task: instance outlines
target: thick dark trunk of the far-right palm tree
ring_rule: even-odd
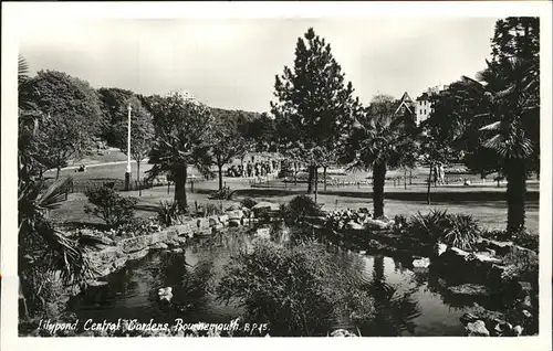
[[[507,162],[507,231],[509,234],[524,228],[526,195],[526,171],[524,161],[508,160]]]

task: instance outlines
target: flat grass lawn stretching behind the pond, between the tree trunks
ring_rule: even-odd
[[[117,164],[118,166],[118,164]],[[101,170],[98,168],[98,170]],[[98,172],[101,174],[109,174],[108,172]],[[85,173],[76,173],[79,176],[95,174],[93,168]],[[113,173],[113,174],[118,174]],[[237,190],[234,201],[239,202],[246,196],[255,199],[257,201],[271,201],[278,203],[286,203],[295,195],[304,193],[305,184],[291,187],[292,189],[257,189],[251,188],[248,180],[226,179],[227,184]],[[213,203],[226,209],[232,202],[208,200],[208,194],[215,191],[218,187],[217,180],[197,183],[195,192],[190,193],[190,188],[187,187],[188,203],[190,206],[204,203]],[[526,201],[526,226],[533,234],[539,233],[539,199],[536,184],[529,184],[529,196]],[[322,187],[321,187],[322,188]],[[344,187],[330,188],[327,192],[322,192],[317,195],[317,202],[323,204],[324,210],[342,210],[342,209],[372,209],[372,200],[369,188]],[[432,188],[432,203],[428,205],[425,201],[425,187],[409,187],[404,190],[403,187],[394,188],[387,185],[385,189],[385,214],[389,217],[396,214],[413,215],[417,212],[428,212],[432,209],[448,210],[451,213],[472,214],[486,227],[503,228],[507,221],[507,203],[504,196],[505,188],[488,187],[439,187]],[[137,191],[123,192],[122,194],[138,198]],[[139,198],[137,215],[148,217],[156,215],[156,206],[161,200],[170,200],[174,196],[174,187],[170,187],[167,193],[167,187],[158,187],[154,189],[143,190],[143,195]],[[64,222],[81,222],[81,223],[100,223],[100,220],[91,217],[84,213],[86,198],[82,193],[70,194],[67,201],[60,209],[52,212],[52,216]]]

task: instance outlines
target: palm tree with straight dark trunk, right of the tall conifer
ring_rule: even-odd
[[[403,116],[394,115],[392,97],[377,96],[353,126],[344,147],[344,161],[349,168],[373,171],[373,206],[375,217],[384,215],[384,183],[388,169],[413,167],[418,146]]]

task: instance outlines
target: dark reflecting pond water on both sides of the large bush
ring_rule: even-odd
[[[81,320],[94,322],[118,318],[142,322],[154,319],[171,323],[175,318],[185,322],[229,322],[242,310],[237,305],[219,302],[215,288],[230,257],[250,246],[253,236],[252,232],[234,230],[196,240],[184,253],[154,252],[106,277],[107,285],[90,287],[72,298],[70,310]],[[379,305],[373,328],[363,330],[363,336],[463,336],[459,318],[465,307],[447,302],[439,291],[441,279],[428,269],[409,269],[408,262],[355,249],[332,249],[340,265],[355,265],[364,280],[376,279],[393,291]],[[161,287],[173,288],[170,306],[159,301]]]

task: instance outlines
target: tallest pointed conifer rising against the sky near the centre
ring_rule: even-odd
[[[293,70],[284,67],[275,77],[271,111],[275,116],[282,152],[295,149],[309,164],[307,192],[320,160],[316,148],[331,149],[343,130],[353,123],[358,100],[353,98],[351,83],[345,84],[342,68],[334,59],[331,45],[310,28],[298,39]]]

